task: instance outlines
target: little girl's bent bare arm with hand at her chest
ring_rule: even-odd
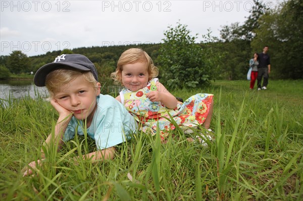
[[[169,109],[177,106],[177,99],[160,82],[157,83],[157,91],[151,91],[146,94],[152,102],[161,102]]]

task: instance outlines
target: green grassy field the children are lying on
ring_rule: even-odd
[[[208,147],[136,133],[112,161],[72,158],[93,151],[75,138],[50,149],[36,177],[22,177],[52,131],[56,111],[43,98],[1,100],[1,200],[301,200],[303,82],[272,81],[266,91],[248,81],[216,81],[207,89],[176,90],[184,100],[215,95]],[[112,94],[114,95],[114,94]],[[196,136],[194,132],[192,136]]]

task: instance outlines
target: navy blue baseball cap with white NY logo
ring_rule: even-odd
[[[65,67],[79,71],[90,71],[96,81],[98,81],[97,70],[94,64],[86,56],[81,54],[62,54],[57,56],[52,63],[47,63],[38,69],[34,77],[35,85],[38,87],[44,87],[46,76],[49,73]]]

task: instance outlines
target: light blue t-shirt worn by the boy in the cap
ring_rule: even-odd
[[[96,99],[97,109],[87,128],[87,136],[95,140],[98,150],[125,142],[136,130],[137,123],[133,116],[110,95],[100,94]],[[77,126],[78,135],[84,136],[82,121],[73,116],[64,133],[65,142],[75,137]]]

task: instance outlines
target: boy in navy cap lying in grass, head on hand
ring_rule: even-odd
[[[136,122],[124,106],[112,96],[100,94],[97,75],[94,64],[80,54],[62,54],[36,72],[35,85],[46,86],[51,104],[59,113],[56,127],[45,141],[45,150],[52,146],[60,150],[78,133],[96,144],[97,151],[83,155],[83,159],[113,159],[114,146],[136,130]],[[24,176],[33,174],[45,155],[42,149],[41,160],[29,163]],[[78,159],[74,160],[77,163]]]

